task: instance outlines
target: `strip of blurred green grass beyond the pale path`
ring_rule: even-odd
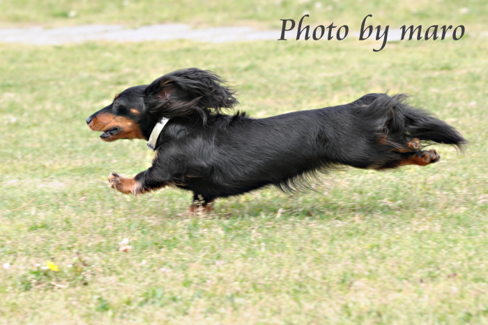
[[[485,0],[2,0],[0,26],[185,22],[281,28],[280,19],[298,22],[305,13],[310,14],[307,22],[347,24],[354,31],[360,29],[363,18],[369,14],[373,15],[369,22],[374,26],[468,24],[469,31],[473,31],[485,26],[488,3]]]

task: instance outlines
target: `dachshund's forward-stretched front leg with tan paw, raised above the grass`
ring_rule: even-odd
[[[148,180],[148,171],[143,171],[132,178],[123,177],[117,173],[110,173],[108,179],[109,187],[124,194],[132,193],[137,195],[139,193],[160,189],[168,185],[168,182],[153,179]]]

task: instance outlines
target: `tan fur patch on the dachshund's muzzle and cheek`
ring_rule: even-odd
[[[139,125],[125,116],[116,116],[112,113],[100,113],[88,125],[92,131],[106,132],[110,129],[118,127],[120,129],[116,134],[112,134],[107,138],[102,138],[103,141],[111,142],[121,138],[144,138]],[[147,139],[146,139],[147,140]]]

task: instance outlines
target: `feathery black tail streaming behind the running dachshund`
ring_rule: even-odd
[[[411,106],[407,95],[392,97],[386,94],[365,95],[358,102],[358,113],[366,120],[374,120],[374,127],[387,139],[405,136],[419,138],[423,143],[455,145],[462,150],[467,143],[457,130],[431,113]]]

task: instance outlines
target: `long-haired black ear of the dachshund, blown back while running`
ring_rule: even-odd
[[[146,88],[144,104],[148,113],[158,117],[175,118],[197,111],[206,118],[211,111],[218,113],[238,104],[234,91],[222,83],[221,77],[208,70],[176,70]]]

